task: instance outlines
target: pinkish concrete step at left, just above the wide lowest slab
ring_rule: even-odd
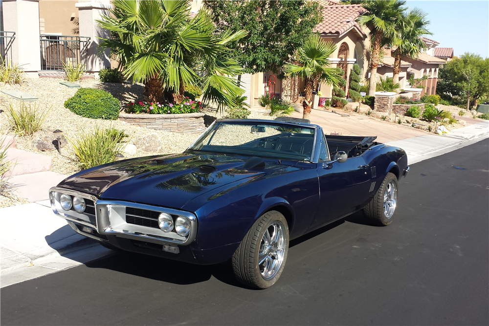
[[[51,157],[18,150],[16,148],[8,149],[6,158],[7,160],[16,163],[15,166],[12,166],[10,170],[5,173],[6,177],[49,171],[52,166]]]

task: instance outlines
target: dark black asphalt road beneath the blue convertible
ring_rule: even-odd
[[[2,288],[1,325],[488,325],[488,145],[412,165],[388,227],[355,214],[294,240],[269,289],[118,253]]]

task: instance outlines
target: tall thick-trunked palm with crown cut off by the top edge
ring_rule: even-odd
[[[386,40],[386,36],[394,35],[396,21],[400,19],[402,12],[406,10],[405,7],[402,7],[405,3],[406,1],[404,0],[366,1],[363,7],[367,9],[368,13],[356,19],[360,25],[372,28],[370,31],[370,40],[373,44],[370,56],[370,96],[375,95],[380,49],[385,45],[383,42]]]

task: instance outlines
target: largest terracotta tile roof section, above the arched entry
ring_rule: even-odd
[[[358,16],[366,12],[360,4],[345,4],[325,6],[323,8],[323,22],[317,24],[314,32],[322,35],[340,36],[352,28],[356,28],[362,37],[366,37],[355,21]]]

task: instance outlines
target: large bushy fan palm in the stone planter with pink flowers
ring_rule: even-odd
[[[217,33],[209,14],[190,18],[190,1],[114,0],[110,15],[98,21],[111,32],[101,49],[111,48],[127,78],[144,84],[151,101],[179,102],[185,85],[202,88],[204,101],[218,106],[244,91],[230,76],[241,67],[229,59],[226,44],[246,32]],[[174,98],[165,99],[163,89]]]

